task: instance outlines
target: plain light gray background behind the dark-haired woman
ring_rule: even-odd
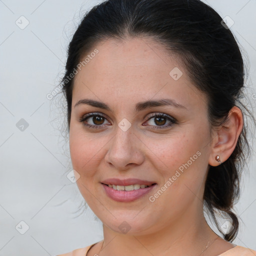
[[[64,113],[55,97],[46,98],[63,74],[66,47],[82,14],[98,2],[0,0],[0,256],[53,256],[103,238],[89,208],[75,213],[83,198],[65,176],[72,167],[59,130]],[[247,94],[255,108],[256,1],[205,2],[234,20],[231,30],[250,64]],[[29,21],[24,29],[15,23],[21,15]],[[16,127],[21,118],[28,123],[23,131]],[[248,164],[233,243],[256,249],[255,155]],[[24,234],[17,231],[25,228],[20,221],[29,226]]]

